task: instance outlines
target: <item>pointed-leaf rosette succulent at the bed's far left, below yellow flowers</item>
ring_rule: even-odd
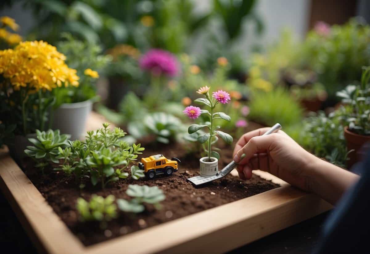
[[[58,154],[59,148],[68,146],[67,134],[60,134],[59,130],[39,131],[36,130],[37,138],[28,138],[34,146],[27,146],[24,153],[27,156],[34,158],[38,161],[36,167],[44,171],[44,167],[49,163],[59,163]]]

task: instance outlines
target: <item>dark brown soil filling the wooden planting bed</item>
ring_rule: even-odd
[[[25,173],[55,213],[60,216],[84,245],[92,245],[130,234],[279,187],[278,184],[256,175],[253,175],[252,179],[248,181],[241,181],[231,174],[203,186],[194,187],[186,179],[199,175],[199,158],[201,156],[191,155],[179,145],[162,145],[159,147],[147,145],[144,147],[146,148],[144,154],[139,158],[159,153],[164,154],[167,158],[178,157],[181,160],[179,170],[172,176],[160,175],[154,180],[144,178],[134,180],[129,177],[108,184],[105,191],[101,190],[100,184],[95,187],[92,186],[89,180],[86,181],[85,188],[80,190],[73,177],[65,176],[62,172],[51,171],[51,169],[45,170],[45,175],[42,175],[34,169],[33,163],[29,161],[24,164]],[[231,160],[232,152],[224,149],[219,161],[220,170]],[[100,228],[98,222],[82,223],[78,220],[78,213],[75,208],[78,197],[90,200],[92,194],[104,197],[113,194],[116,198],[129,199],[130,197],[125,193],[129,184],[146,184],[161,188],[166,195],[166,199],[161,202],[162,209],[156,210],[152,205],[146,205],[146,210],[140,214],[120,212],[120,216],[109,221],[104,229]]]

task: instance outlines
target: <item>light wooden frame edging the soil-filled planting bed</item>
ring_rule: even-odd
[[[332,208],[269,173],[253,172],[281,187],[85,247],[9,154],[0,153],[1,191],[37,250],[50,254],[223,253]]]

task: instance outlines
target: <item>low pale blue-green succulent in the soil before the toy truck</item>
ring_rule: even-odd
[[[160,209],[161,204],[159,202],[166,198],[158,186],[149,187],[147,185],[130,184],[126,194],[133,198],[129,201],[118,199],[117,205],[121,211],[130,213],[141,213],[144,211],[144,203],[152,204],[155,208]]]

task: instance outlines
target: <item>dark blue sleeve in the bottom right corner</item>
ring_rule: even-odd
[[[363,253],[370,240],[370,153],[356,172],[360,180],[344,195],[329,216],[314,253]]]

